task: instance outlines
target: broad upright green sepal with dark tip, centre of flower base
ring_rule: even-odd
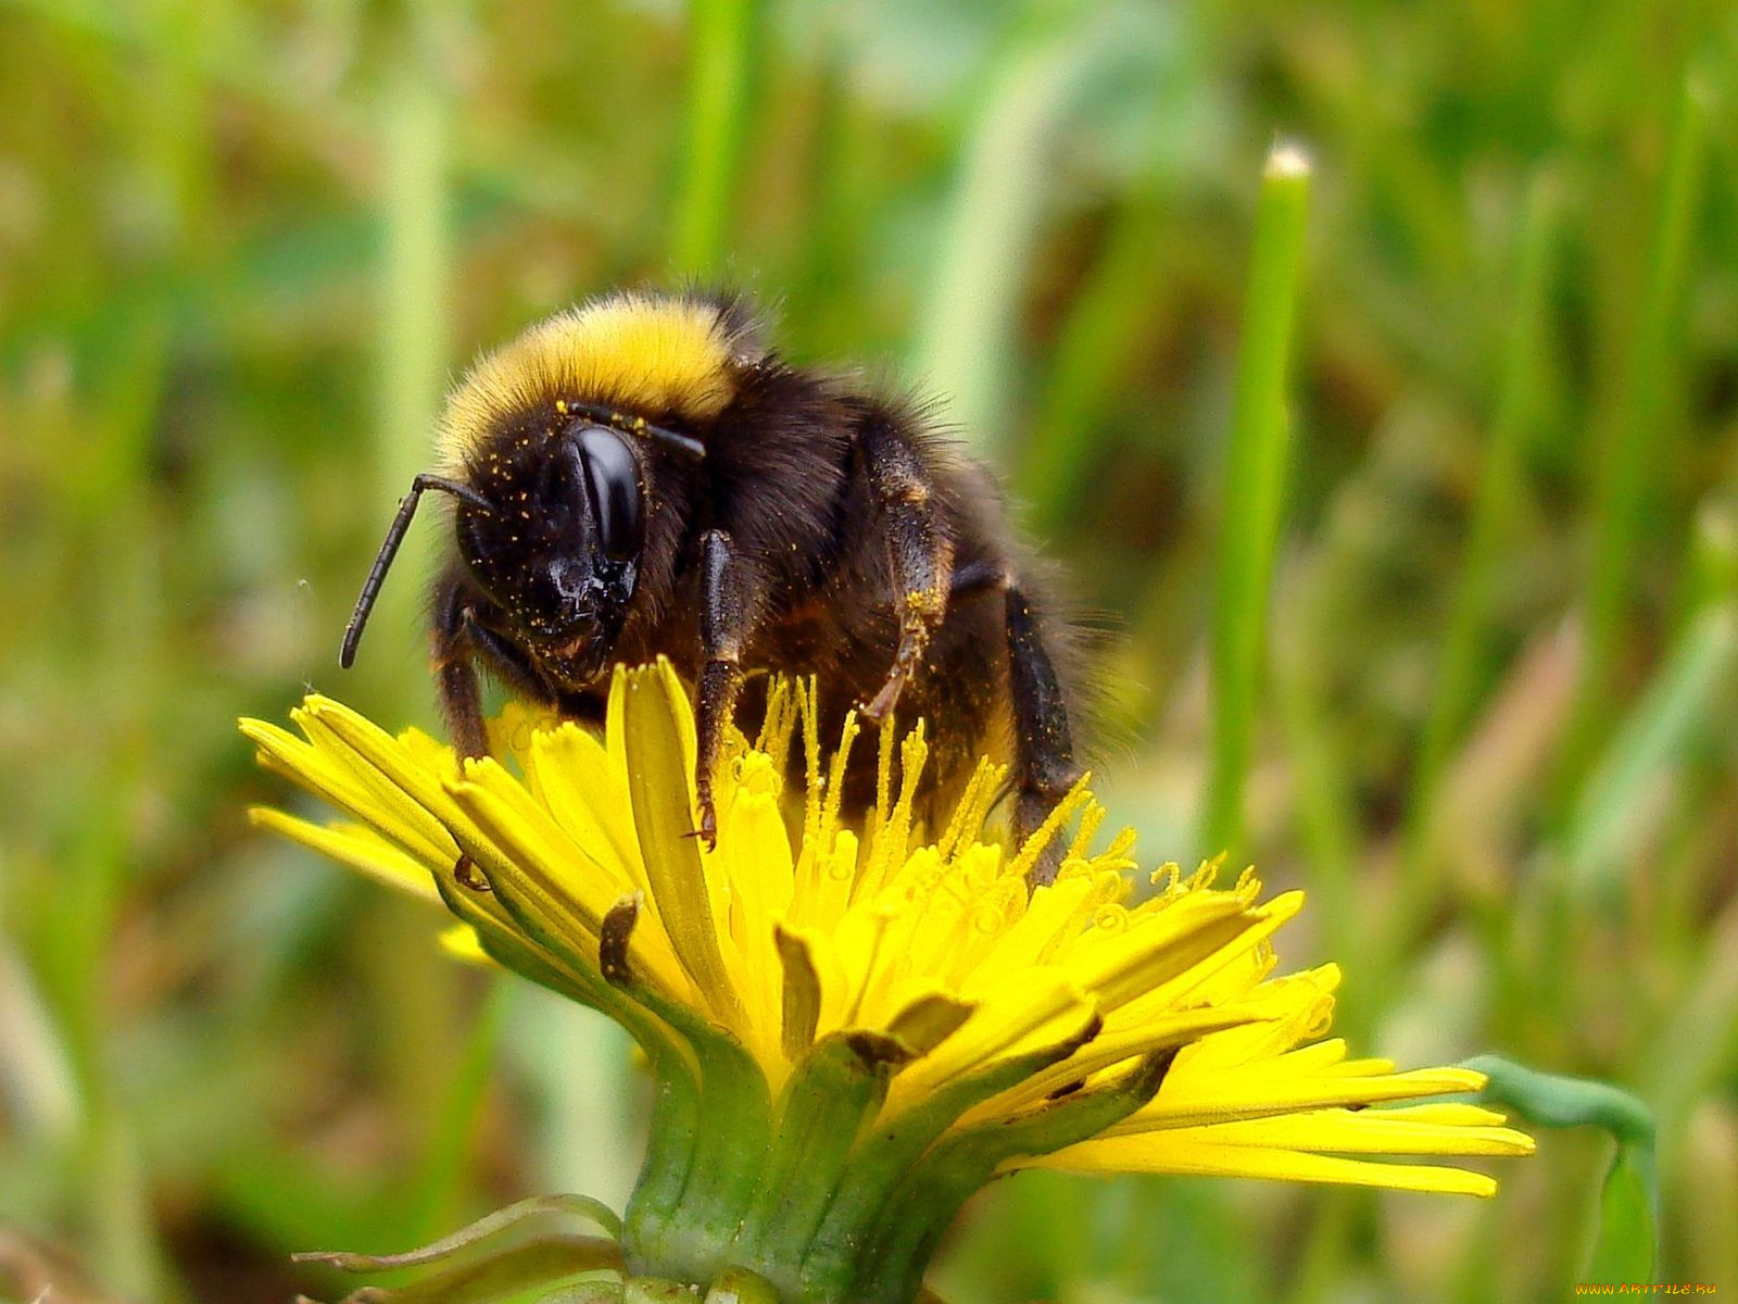
[[[779,1097],[779,1132],[754,1205],[737,1238],[751,1262],[801,1262],[852,1149],[911,1050],[881,1033],[839,1031],[796,1064]],[[793,1283],[794,1285],[794,1283]]]

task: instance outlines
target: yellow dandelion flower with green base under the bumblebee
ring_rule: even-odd
[[[620,1229],[626,1271],[768,1297],[904,1302],[959,1205],[999,1174],[1224,1174],[1491,1194],[1385,1156],[1526,1154],[1483,1076],[1397,1073],[1328,1031],[1338,970],[1276,975],[1302,894],[1095,850],[1085,786],[1024,847],[985,838],[984,762],[945,828],[912,796],[921,727],[881,734],[879,800],[841,819],[855,722],[824,755],[812,690],[777,685],[693,829],[693,716],[666,664],[619,669],[605,735],[511,708],[497,760],[393,737],[309,697],[302,737],[243,722],[266,765],[342,810],[273,828],[457,916],[445,942],[617,1019],[655,1080]],[[869,744],[864,741],[862,744]],[[805,782],[787,793],[799,748]],[[1069,833],[1072,829],[1072,835]],[[1057,880],[1027,869],[1069,838]]]

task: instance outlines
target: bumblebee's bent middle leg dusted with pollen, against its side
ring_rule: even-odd
[[[881,532],[893,569],[893,603],[899,612],[899,650],[881,690],[862,708],[871,723],[892,715],[930,635],[947,615],[952,586],[954,541],[930,501],[930,475],[916,450],[899,438],[893,424],[869,419],[859,447],[869,469],[869,485],[881,502]]]

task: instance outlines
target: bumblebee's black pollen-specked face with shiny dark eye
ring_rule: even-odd
[[[553,683],[582,689],[608,661],[645,542],[634,436],[589,416],[507,438],[480,459],[454,518],[459,556]]]

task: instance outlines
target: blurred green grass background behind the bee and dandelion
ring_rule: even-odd
[[[687,276],[999,462],[1105,614],[1147,857],[1307,888],[1281,963],[1343,963],[1363,1052],[1639,1094],[1656,1280],[1738,1290],[1735,52],[1728,5],[1622,0],[0,5],[0,1299],[334,1297],[290,1250],[622,1201],[615,1031],[255,836],[294,798],[235,718],[431,722],[434,532],[335,650],[445,386]],[[1265,509],[1227,447],[1276,139]],[[1489,1203],[1031,1174],[933,1280],[1561,1299],[1608,1158],[1542,1132]]]

